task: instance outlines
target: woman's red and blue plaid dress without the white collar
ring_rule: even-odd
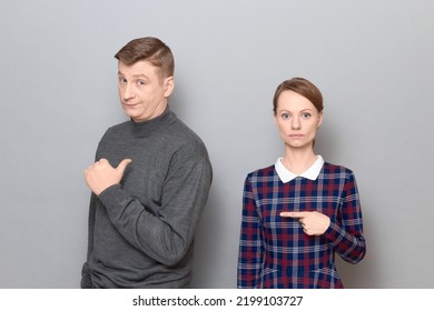
[[[283,211],[318,211],[331,218],[322,235],[307,235]],[[238,288],[343,288],[335,253],[351,263],[365,255],[354,173],[325,162],[316,180],[283,183],[268,167],[247,175],[243,194]]]

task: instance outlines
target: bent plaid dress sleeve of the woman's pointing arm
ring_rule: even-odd
[[[341,212],[336,219],[331,220],[325,237],[345,261],[357,263],[365,257],[362,210],[354,173],[345,182]]]

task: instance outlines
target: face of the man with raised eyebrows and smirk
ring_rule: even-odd
[[[174,89],[174,77],[162,78],[159,69],[148,61],[127,66],[118,63],[118,91],[120,102],[135,122],[160,116]]]

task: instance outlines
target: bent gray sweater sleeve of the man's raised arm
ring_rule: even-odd
[[[100,193],[111,223],[135,248],[166,265],[189,250],[211,183],[211,167],[203,157],[172,160],[157,214],[116,184]]]

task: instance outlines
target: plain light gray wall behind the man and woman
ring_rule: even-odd
[[[172,110],[206,142],[214,184],[194,287],[235,288],[244,178],[283,156],[277,84],[325,97],[317,153],[356,173],[367,255],[348,288],[433,288],[434,2],[22,1],[0,10],[0,288],[77,288],[83,169],[126,120],[114,54],[156,36],[176,58]]]

